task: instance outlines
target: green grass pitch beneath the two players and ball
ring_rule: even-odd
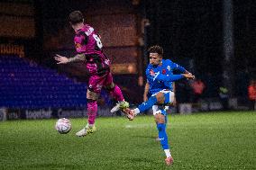
[[[166,166],[152,116],[98,118],[97,131],[75,136],[86,119],[0,122],[0,169],[256,169],[256,112],[169,116],[174,165]]]

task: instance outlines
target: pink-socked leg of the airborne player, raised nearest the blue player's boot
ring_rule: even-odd
[[[129,107],[129,103],[124,101],[121,89],[118,85],[114,84],[113,76],[110,72],[105,76],[104,85],[109,94],[118,102],[110,112],[118,112],[120,109]]]

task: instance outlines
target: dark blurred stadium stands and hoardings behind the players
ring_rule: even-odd
[[[114,81],[124,97],[142,103],[146,49],[186,67],[195,81],[176,83],[174,113],[254,110],[256,1],[253,0],[1,0],[0,120],[81,117],[87,114],[83,63],[74,56],[69,13],[80,10],[101,35]],[[105,90],[98,115],[112,116]]]

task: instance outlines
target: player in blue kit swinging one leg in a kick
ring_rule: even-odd
[[[140,104],[137,108],[133,110],[126,108],[123,112],[126,113],[130,121],[133,121],[137,114],[152,107],[159,131],[160,144],[166,155],[165,162],[170,166],[173,163],[173,158],[169,151],[166,133],[167,112],[164,110],[164,107],[175,104],[172,82],[181,78],[194,79],[195,76],[171,60],[163,59],[163,49],[160,46],[152,46],[148,52],[150,53],[150,64],[146,69],[146,76],[147,84],[150,87],[149,92],[152,95],[148,101]],[[183,74],[173,75],[173,70],[179,70]]]

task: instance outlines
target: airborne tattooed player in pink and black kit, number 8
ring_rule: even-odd
[[[76,32],[74,42],[78,54],[73,58],[66,58],[56,54],[54,58],[58,61],[57,64],[67,64],[82,60],[89,71],[90,77],[87,89],[88,122],[85,128],[76,133],[78,137],[83,137],[96,130],[96,99],[102,87],[105,87],[114,99],[118,101],[111,112],[125,109],[129,106],[129,103],[124,101],[120,88],[114,85],[113,76],[110,72],[110,61],[103,53],[103,45],[95,29],[84,23],[83,14],[79,11],[69,14],[69,23]]]

